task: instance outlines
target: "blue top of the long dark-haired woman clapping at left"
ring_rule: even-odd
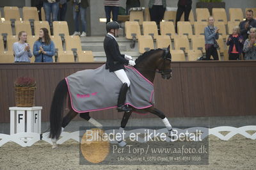
[[[43,47],[46,54],[42,54],[42,52],[38,52],[40,47]],[[54,56],[55,46],[54,42],[51,41],[49,45],[45,44],[41,41],[36,41],[33,47],[33,54],[35,56],[35,62],[53,62],[52,56]]]

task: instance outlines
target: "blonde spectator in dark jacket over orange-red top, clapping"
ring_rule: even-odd
[[[241,54],[243,53],[243,36],[240,35],[239,26],[233,28],[232,35],[228,36],[227,45],[228,49],[228,59],[229,60],[238,60],[240,59]]]

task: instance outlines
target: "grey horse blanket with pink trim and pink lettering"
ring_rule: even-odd
[[[102,65],[66,77],[72,109],[76,112],[100,111],[116,107],[122,82]],[[154,105],[154,85],[135,68],[125,66],[131,81],[125,104],[136,109]]]

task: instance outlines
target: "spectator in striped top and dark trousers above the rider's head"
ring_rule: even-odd
[[[104,0],[106,19],[110,22],[110,13],[112,12],[112,20],[117,22],[118,9],[119,9],[119,0]]]

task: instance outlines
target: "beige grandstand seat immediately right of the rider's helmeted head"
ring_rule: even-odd
[[[137,21],[126,21],[125,22],[125,35],[127,39],[132,39],[133,37],[138,38],[141,35],[140,25]]]

